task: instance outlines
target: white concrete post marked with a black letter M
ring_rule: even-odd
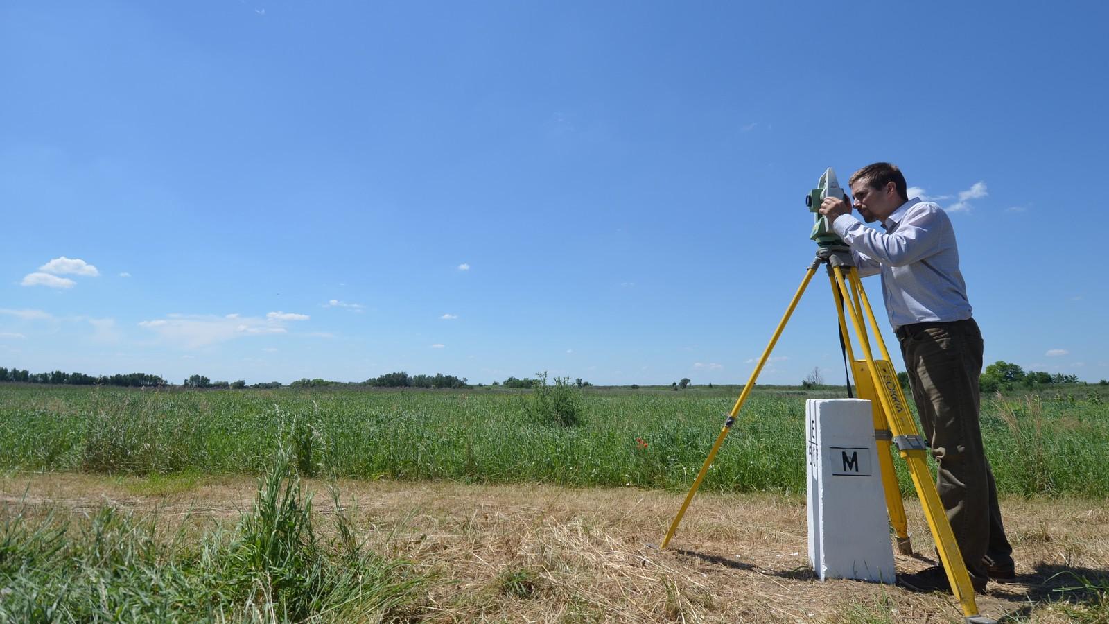
[[[894,582],[871,402],[810,399],[808,560],[825,578]]]

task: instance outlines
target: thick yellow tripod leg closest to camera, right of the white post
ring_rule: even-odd
[[[853,276],[854,281],[858,281],[858,273],[854,266],[851,268],[849,275]],[[836,283],[840,285],[840,292],[845,298],[848,296],[847,284],[845,283],[843,271],[838,266],[835,268],[835,278]],[[855,333],[862,334],[864,332],[864,321],[861,318],[862,312],[854,309],[848,309],[848,312],[851,313],[852,324],[855,326]],[[970,575],[963,563],[963,554],[959,552],[959,545],[955,541],[952,525],[947,522],[947,514],[939,501],[939,494],[936,492],[936,484],[932,481],[932,473],[928,472],[924,439],[917,432],[916,423],[913,421],[912,414],[905,403],[901,385],[897,383],[897,375],[893,373],[893,368],[888,363],[879,370],[874,362],[874,356],[871,354],[869,349],[864,350],[863,355],[866,359],[866,366],[871,373],[871,381],[874,383],[875,393],[878,395],[882,407],[886,412],[894,442],[897,444],[901,456],[905,460],[906,465],[908,465],[909,474],[913,476],[913,484],[916,486],[917,495],[920,496],[920,503],[924,506],[924,516],[928,521],[928,527],[932,530],[932,536],[936,542],[936,550],[939,552],[939,558],[944,564],[945,572],[947,572],[947,581],[952,586],[952,593],[959,601],[967,620],[978,618],[978,606],[975,604]],[[897,402],[896,405],[895,401]]]

